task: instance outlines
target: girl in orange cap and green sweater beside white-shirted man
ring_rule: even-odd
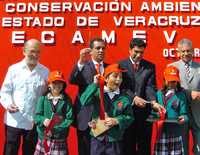
[[[73,121],[71,98],[65,93],[66,82],[60,71],[48,77],[48,92],[36,106],[35,124],[38,143],[34,155],[67,155],[66,138]]]

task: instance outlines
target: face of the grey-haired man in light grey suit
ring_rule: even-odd
[[[178,46],[178,50],[179,50],[180,58],[184,62],[189,62],[192,60],[192,56],[193,56],[192,47],[190,47],[189,45],[183,44],[183,45]]]

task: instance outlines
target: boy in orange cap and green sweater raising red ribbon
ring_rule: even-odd
[[[104,71],[104,125],[109,129],[101,135],[95,137],[90,132],[91,155],[122,155],[122,137],[125,129],[134,120],[131,103],[125,94],[122,94],[119,87],[122,82],[122,70],[118,64],[109,65]],[[80,100],[83,106],[93,104],[92,123],[89,127],[96,128],[96,120],[100,113],[100,88],[99,75],[95,76],[95,82],[87,87]]]

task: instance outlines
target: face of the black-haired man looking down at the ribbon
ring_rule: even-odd
[[[130,56],[134,62],[139,62],[143,58],[144,47],[135,46],[129,49]]]

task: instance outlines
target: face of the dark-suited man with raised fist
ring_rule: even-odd
[[[104,42],[95,41],[94,47],[91,49],[91,57],[97,62],[103,61],[105,55],[105,48],[106,45]]]

